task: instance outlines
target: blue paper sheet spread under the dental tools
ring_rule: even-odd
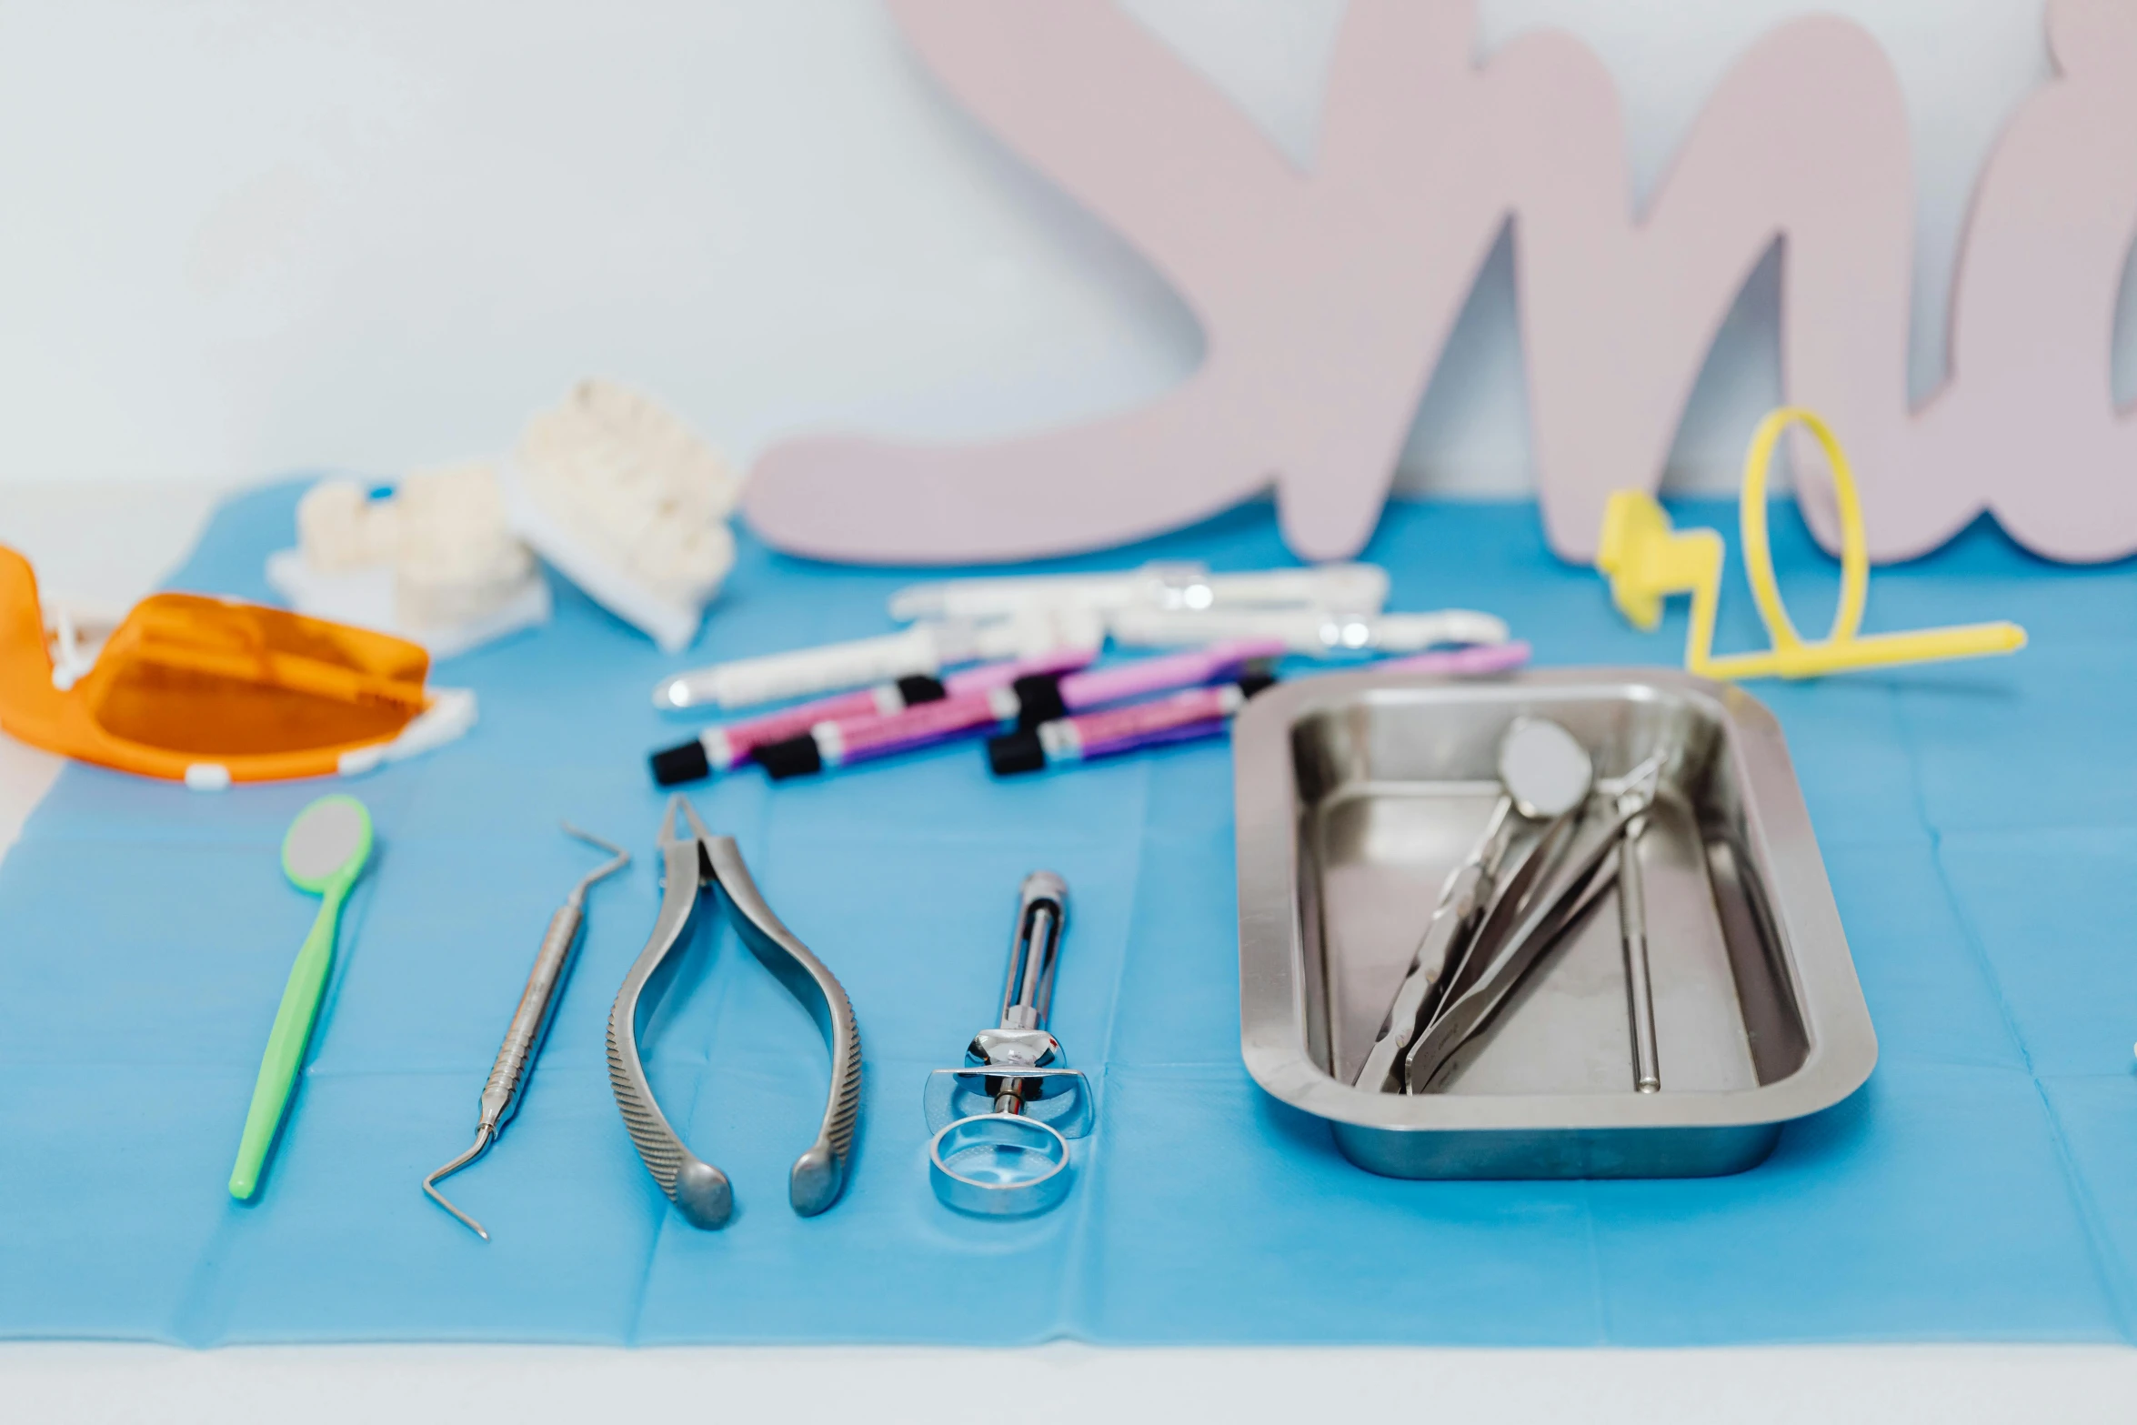
[[[224,506],[180,588],[265,598],[297,487]],[[1733,526],[1727,506],[1680,521]],[[1058,568],[1282,562],[1269,511]],[[1545,664],[1673,662],[1543,549],[1526,504],[1393,504],[1368,558],[1398,607],[1502,613]],[[1834,566],[1793,513],[1804,628]],[[2005,660],[1759,684],[1780,714],[1883,1058],[1849,1102],[1725,1179],[1387,1181],[1265,1098],[1237,1053],[1231,761],[1186,746],[992,782],[972,746],[814,782],[697,793],[844,978],[865,1047],[846,1199],[786,1209],[827,1075],[814,1028],[729,931],[652,1032],[684,1137],[735,1179],[699,1233],[624,1137],[609,998],[652,923],[686,735],[648,690],[714,658],[885,628],[906,575],[744,541],[699,647],[660,656],[568,588],[556,624],[438,669],[481,694],[462,743],[355,784],[378,859],[295,1113],[254,1205],[224,1192],[314,902],[276,848],[318,786],[220,795],[71,767],[0,863],[0,1335],[186,1344],[2133,1340],[2137,1318],[2137,568],[2073,570],[1977,526],[1878,570],[1870,628],[2013,617]],[[1722,647],[1754,622],[1737,566]],[[504,1141],[459,1152],[543,925],[594,861],[577,976]],[[1068,1203],[1032,1222],[930,1196],[921,1081],[998,993],[1017,878],[1068,878],[1054,1028],[1101,1075]]]

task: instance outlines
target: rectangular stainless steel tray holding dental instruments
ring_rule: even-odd
[[[1445,1092],[1353,1087],[1440,882],[1489,816],[1494,750],[1519,714],[1562,722],[1598,776],[1669,750],[1641,837],[1663,1092],[1633,1092],[1616,893]],[[1363,1169],[1737,1173],[1876,1064],[1789,748],[1740,688],[1656,669],[1314,677],[1250,701],[1233,758],[1239,1051]]]

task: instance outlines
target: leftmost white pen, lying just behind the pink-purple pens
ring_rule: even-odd
[[[675,673],[654,686],[654,707],[662,711],[750,707],[895,682],[915,673],[932,677],[947,667],[983,658],[1036,658],[1056,649],[1096,652],[1101,643],[1105,624],[1081,609],[1026,609],[989,624],[970,620],[912,624],[874,639],[731,658],[707,669]]]

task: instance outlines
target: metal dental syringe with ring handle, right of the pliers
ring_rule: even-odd
[[[1032,872],[1017,889],[1000,1023],[972,1036],[962,1068],[927,1075],[927,1181],[947,1207],[1021,1218],[1068,1192],[1068,1139],[1090,1132],[1090,1081],[1047,1032],[1068,884]]]

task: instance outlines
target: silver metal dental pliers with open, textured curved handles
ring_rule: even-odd
[[[675,831],[677,814],[688,825],[684,835]],[[669,801],[660,823],[660,914],[654,919],[652,940],[630,966],[609,1011],[609,1083],[615,1087],[615,1107],[624,1111],[624,1126],[639,1147],[639,1158],[645,1160],[645,1171],[684,1220],[703,1228],[727,1226],[735,1209],[727,1173],[684,1147],[654,1102],[645,1066],[639,1062],[639,1028],[660,998],[660,989],[648,993],[648,983],[686,942],[697,910],[705,904],[701,893],[714,887],[727,891],[727,917],[742,942],[808,1008],[831,1049],[831,1094],[823,1107],[823,1126],[808,1152],[795,1160],[786,1181],[793,1209],[812,1218],[836,1203],[846,1188],[853,1132],[861,1113],[861,1030],[853,1019],[853,1004],[823,961],[771,914],[771,906],[759,895],[750,870],[742,863],[735,837],[705,831],[705,823],[680,795]]]

